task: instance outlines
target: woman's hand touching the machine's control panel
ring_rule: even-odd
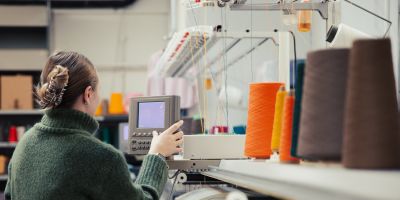
[[[156,131],[153,131],[153,140],[151,141],[149,154],[160,153],[164,157],[168,157],[174,153],[182,151],[180,146],[183,143],[183,132],[179,131],[175,133],[179,130],[182,124],[183,121],[181,120],[169,127],[160,135]]]

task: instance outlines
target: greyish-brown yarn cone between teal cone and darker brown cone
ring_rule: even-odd
[[[341,159],[349,52],[328,49],[307,55],[297,149],[301,158]]]

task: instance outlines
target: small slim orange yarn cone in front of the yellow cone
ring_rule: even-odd
[[[293,90],[285,98],[283,108],[282,134],[279,146],[279,160],[281,162],[298,163],[299,160],[291,156],[294,94]]]

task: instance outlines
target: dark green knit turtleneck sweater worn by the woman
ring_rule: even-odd
[[[133,183],[122,153],[92,135],[98,126],[76,110],[46,111],[14,151],[6,199],[159,199],[166,162],[146,156]]]

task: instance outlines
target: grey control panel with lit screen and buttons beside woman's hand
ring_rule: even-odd
[[[129,110],[128,153],[146,155],[153,139],[153,131],[161,133],[179,120],[179,96],[132,98]]]

